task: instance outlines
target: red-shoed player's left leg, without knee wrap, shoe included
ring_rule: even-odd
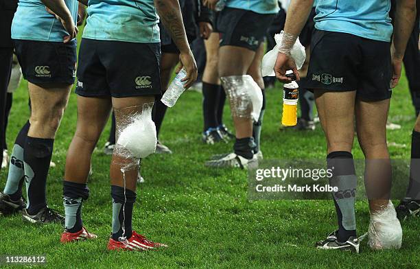
[[[94,108],[94,109],[92,109]],[[67,151],[63,202],[65,205],[65,231],[60,241],[68,243],[97,236],[89,233],[82,222],[82,202],[89,198],[87,181],[91,158],[98,139],[109,117],[109,97],[78,95],[78,121],[75,134]]]

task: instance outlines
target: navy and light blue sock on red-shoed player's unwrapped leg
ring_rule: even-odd
[[[82,202],[89,198],[89,188],[87,184],[64,181],[62,195],[66,213],[65,229],[69,233],[76,233],[82,230]]]

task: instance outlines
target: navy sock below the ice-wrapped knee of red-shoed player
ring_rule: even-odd
[[[123,224],[125,229],[125,236],[128,238],[132,235],[132,209],[136,201],[136,193],[126,189],[124,197],[124,188],[112,185],[111,196],[113,198],[113,234],[114,240],[118,241],[124,233]]]

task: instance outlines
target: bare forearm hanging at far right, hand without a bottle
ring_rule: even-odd
[[[399,60],[404,58],[408,38],[416,20],[416,1],[399,0],[395,10],[393,56]]]

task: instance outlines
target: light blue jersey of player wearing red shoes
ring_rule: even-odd
[[[153,0],[89,0],[83,38],[159,43]]]

